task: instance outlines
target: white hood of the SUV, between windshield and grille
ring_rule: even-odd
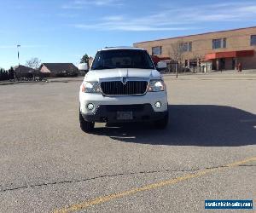
[[[125,68],[125,69],[106,69],[106,70],[91,70],[88,72],[84,80],[85,81],[99,81],[104,78],[161,78],[160,72],[156,70],[149,69],[135,69],[135,68]]]

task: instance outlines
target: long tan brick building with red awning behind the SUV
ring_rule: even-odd
[[[243,69],[256,69],[256,26],[159,39],[133,45],[147,49],[150,55],[165,59],[173,59],[173,55],[181,51],[183,66],[204,65],[211,70],[232,70],[241,63]]]

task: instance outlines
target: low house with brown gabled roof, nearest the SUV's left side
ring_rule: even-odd
[[[78,76],[79,69],[73,63],[43,63],[39,67],[45,77]]]

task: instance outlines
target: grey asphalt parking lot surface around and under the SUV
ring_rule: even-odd
[[[256,78],[166,77],[166,130],[96,124],[90,135],[79,128],[79,84],[0,85],[0,212],[255,206]]]

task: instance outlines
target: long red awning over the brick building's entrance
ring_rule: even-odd
[[[213,60],[213,59],[221,59],[221,58],[238,58],[238,57],[248,57],[253,55],[254,55],[254,50],[240,50],[240,51],[218,52],[218,53],[207,54],[205,59]]]

